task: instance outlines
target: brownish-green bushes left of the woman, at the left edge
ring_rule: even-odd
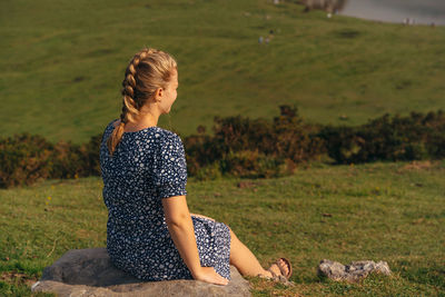
[[[31,185],[40,179],[100,175],[101,136],[73,145],[48,142],[40,136],[16,135],[0,139],[0,187]]]

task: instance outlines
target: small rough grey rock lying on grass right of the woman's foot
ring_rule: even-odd
[[[389,266],[386,261],[353,261],[343,265],[338,261],[324,259],[318,265],[318,274],[334,280],[346,280],[357,283],[367,277],[370,273],[390,275]]]

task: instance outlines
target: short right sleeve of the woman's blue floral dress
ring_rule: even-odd
[[[186,156],[177,135],[161,139],[155,165],[155,185],[160,198],[187,195]]]

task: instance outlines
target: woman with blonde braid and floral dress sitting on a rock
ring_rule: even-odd
[[[288,260],[265,270],[228,226],[190,215],[182,142],[157,127],[177,97],[176,61],[144,49],[129,62],[122,87],[120,119],[107,126],[100,147],[107,250],[115,266],[145,280],[226,285],[229,264],[244,276],[288,278]]]

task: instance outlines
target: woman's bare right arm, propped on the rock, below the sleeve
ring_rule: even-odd
[[[228,280],[218,275],[212,267],[201,267],[200,265],[186,196],[164,198],[162,207],[171,239],[192,277],[211,284],[227,285]]]

